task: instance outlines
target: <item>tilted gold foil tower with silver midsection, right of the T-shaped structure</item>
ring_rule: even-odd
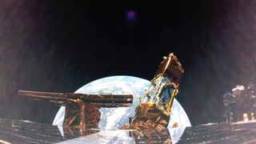
[[[137,130],[156,129],[162,130],[168,126],[170,110],[174,96],[178,94],[178,84],[183,73],[183,68],[174,54],[164,57],[158,67],[157,73],[151,80],[146,96],[142,98],[130,126]]]

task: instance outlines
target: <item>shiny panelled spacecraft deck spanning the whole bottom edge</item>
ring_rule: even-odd
[[[173,128],[157,134],[139,130],[62,130],[37,122],[0,118],[0,142],[10,143],[255,143],[256,121]],[[170,141],[171,140],[171,141]]]

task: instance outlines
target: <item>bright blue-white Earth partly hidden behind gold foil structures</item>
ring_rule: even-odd
[[[124,124],[128,123],[128,118],[133,117],[135,109],[138,106],[138,98],[145,95],[145,90],[150,86],[150,81],[132,76],[111,76],[100,78],[94,82],[90,82],[74,93],[79,94],[133,94],[134,102],[132,107],[118,108],[101,108],[101,119],[98,127],[101,130],[118,130]],[[178,96],[178,95],[177,95]],[[54,118],[53,125],[62,126],[64,119],[65,107],[62,106]],[[190,120],[186,115],[185,110],[180,103],[174,98],[174,103],[170,112],[170,122],[168,128],[171,128],[175,123],[178,124],[177,130],[172,130],[171,133],[178,135],[187,126],[190,125]],[[175,136],[177,134],[174,134]]]

